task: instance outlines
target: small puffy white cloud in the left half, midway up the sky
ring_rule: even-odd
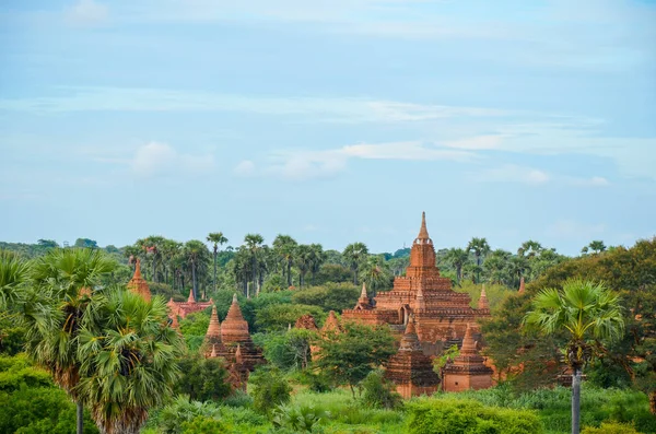
[[[137,150],[130,165],[134,174],[142,177],[194,175],[211,171],[214,167],[214,157],[211,154],[181,154],[169,144],[150,142]]]

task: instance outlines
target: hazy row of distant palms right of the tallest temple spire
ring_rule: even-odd
[[[466,248],[450,248],[438,255],[441,268],[454,271],[456,281],[470,279],[517,288],[522,278],[534,280],[548,268],[563,261],[554,248],[529,239],[516,254],[490,248],[485,238],[472,238]]]

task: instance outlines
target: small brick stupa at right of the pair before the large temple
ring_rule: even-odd
[[[478,390],[492,387],[492,368],[485,366],[473,340],[473,330],[467,325],[460,354],[442,368],[445,391]]]

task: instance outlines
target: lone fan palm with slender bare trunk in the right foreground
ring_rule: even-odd
[[[604,283],[569,280],[562,291],[547,289],[532,301],[525,321],[546,335],[566,332],[565,361],[572,368],[572,434],[581,423],[581,375],[600,341],[622,336],[624,318],[618,295]]]

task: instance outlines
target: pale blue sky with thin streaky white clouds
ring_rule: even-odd
[[[0,3],[0,239],[656,235],[656,2]]]

